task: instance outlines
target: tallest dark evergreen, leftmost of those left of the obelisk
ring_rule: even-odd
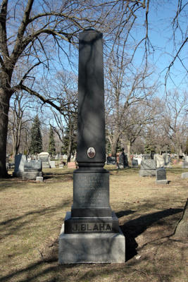
[[[39,154],[40,152],[42,152],[42,134],[39,117],[35,116],[31,129],[30,154]]]

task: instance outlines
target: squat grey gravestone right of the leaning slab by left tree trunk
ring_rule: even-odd
[[[37,176],[42,176],[42,161],[25,161],[23,180],[36,180]]]

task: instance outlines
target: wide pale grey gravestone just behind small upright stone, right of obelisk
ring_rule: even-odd
[[[142,160],[140,164],[139,176],[156,176],[156,160]]]

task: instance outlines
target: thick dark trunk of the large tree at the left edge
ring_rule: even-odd
[[[8,111],[10,95],[0,88],[0,178],[8,177],[6,171],[6,139],[8,133]]]

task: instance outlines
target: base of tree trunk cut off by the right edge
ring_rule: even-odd
[[[175,236],[188,237],[188,199],[184,206],[182,218],[177,223],[177,226],[175,228]]]

